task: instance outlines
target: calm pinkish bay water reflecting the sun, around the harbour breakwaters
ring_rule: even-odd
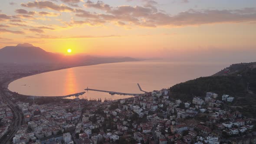
[[[46,72],[18,79],[9,85],[9,89],[23,95],[63,96],[84,92],[85,88],[143,93],[169,88],[180,82],[201,76],[210,76],[229,66],[229,63],[193,63],[141,61],[90,65]],[[89,91],[81,98],[128,98],[124,95],[109,95],[103,92]]]

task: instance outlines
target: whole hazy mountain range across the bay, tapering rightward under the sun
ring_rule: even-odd
[[[6,46],[0,49],[0,62],[2,63],[66,63],[69,65],[83,65],[84,63],[109,63],[137,61],[130,57],[96,57],[96,56],[63,56],[33,46],[29,43],[17,46]]]

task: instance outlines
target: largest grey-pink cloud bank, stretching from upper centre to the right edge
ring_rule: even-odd
[[[154,3],[151,0],[144,0]],[[256,8],[244,8],[240,10],[187,10],[176,15],[159,12],[154,7],[118,6],[105,9],[103,2],[93,3],[87,1],[85,7],[94,7],[105,10],[105,14],[90,13],[85,10],[75,10],[75,16],[87,18],[85,21],[77,21],[77,24],[94,23],[96,20],[102,23],[114,22],[119,26],[128,25],[142,27],[159,26],[191,26],[210,23],[241,23],[256,21]],[[118,23],[121,21],[122,23]],[[72,24],[72,23],[69,23]]]

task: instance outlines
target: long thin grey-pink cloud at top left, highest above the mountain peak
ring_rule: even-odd
[[[21,3],[22,7],[36,7],[39,9],[50,9],[50,10],[56,10],[60,12],[65,11],[73,11],[71,7],[68,7],[64,4],[57,5],[50,1],[34,1],[34,2],[28,2],[28,3]]]

